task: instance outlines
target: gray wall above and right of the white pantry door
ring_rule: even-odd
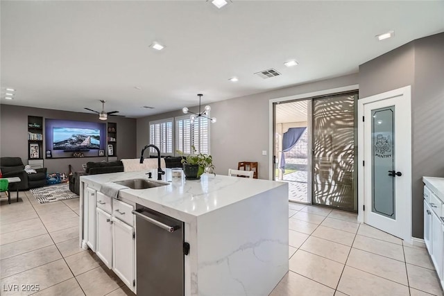
[[[359,67],[359,98],[412,86],[412,235],[423,238],[422,176],[444,177],[444,33]]]

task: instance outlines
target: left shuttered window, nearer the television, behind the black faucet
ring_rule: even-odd
[[[173,155],[173,119],[150,122],[150,143],[157,146],[163,155]],[[157,153],[150,148],[150,153]]]

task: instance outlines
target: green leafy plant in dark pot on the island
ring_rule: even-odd
[[[199,180],[203,173],[214,174],[213,157],[205,153],[196,154],[196,148],[191,146],[192,154],[185,156],[180,150],[176,152],[182,156],[183,171],[187,180]]]

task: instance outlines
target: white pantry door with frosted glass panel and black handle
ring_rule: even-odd
[[[359,218],[410,242],[411,88],[362,98],[358,104]]]

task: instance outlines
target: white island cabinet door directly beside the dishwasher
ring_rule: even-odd
[[[135,290],[134,228],[113,218],[112,270],[131,290]]]

